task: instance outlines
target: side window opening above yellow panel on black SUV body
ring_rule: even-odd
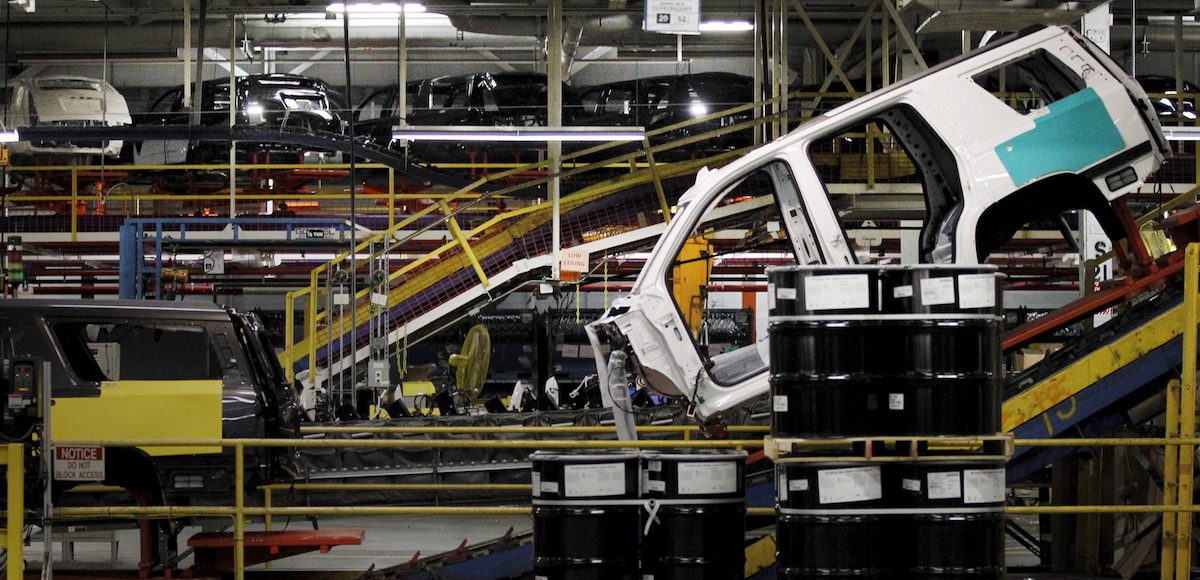
[[[218,379],[222,365],[202,325],[175,322],[56,321],[55,340],[83,381]]]

